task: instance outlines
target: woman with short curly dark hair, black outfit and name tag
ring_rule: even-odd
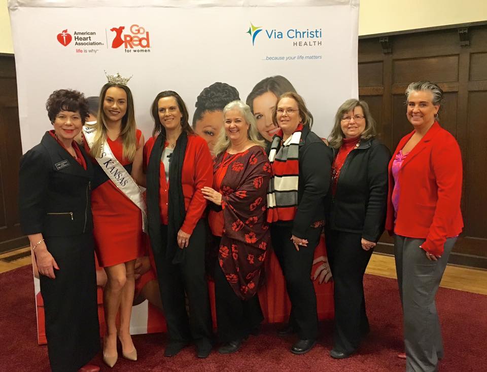
[[[20,160],[20,224],[40,274],[53,372],[96,371],[100,350],[90,184],[91,162],[73,140],[88,116],[82,93],[54,91],[54,130]],[[81,369],[80,369],[81,368]]]

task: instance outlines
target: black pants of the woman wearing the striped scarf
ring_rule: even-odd
[[[311,280],[311,267],[315,248],[320,240],[321,228],[309,229],[307,247],[296,250],[291,240],[291,228],[271,225],[272,248],[281,264],[289,299],[293,325],[301,340],[315,340],[318,336],[318,314],[315,287]]]

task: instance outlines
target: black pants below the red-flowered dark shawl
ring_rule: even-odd
[[[228,283],[220,264],[215,265],[215,303],[220,342],[241,340],[257,327],[264,316],[257,293],[242,300]]]

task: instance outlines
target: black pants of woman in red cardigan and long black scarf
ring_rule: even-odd
[[[184,343],[194,340],[197,345],[210,343],[213,334],[204,270],[204,221],[199,220],[196,224],[189,245],[184,248],[184,262],[176,265],[172,264],[165,254],[167,226],[162,225],[161,229],[162,251],[154,252],[154,259],[169,339],[172,342]],[[189,319],[185,293],[189,300]]]

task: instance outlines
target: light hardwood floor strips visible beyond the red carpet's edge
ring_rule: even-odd
[[[0,273],[30,265],[29,250],[29,247],[25,247],[0,254]],[[388,254],[373,253],[366,273],[397,279],[394,257]],[[445,288],[487,295],[487,270],[448,265],[440,285]]]

